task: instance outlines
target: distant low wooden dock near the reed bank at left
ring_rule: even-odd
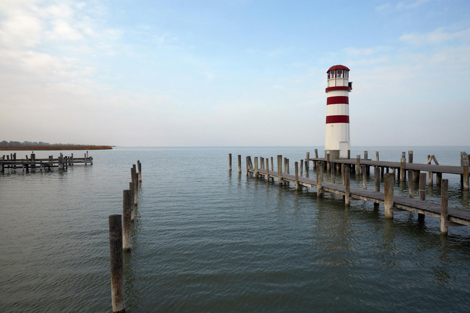
[[[9,156],[2,156],[0,159],[0,172],[5,172],[6,169],[16,170],[21,169],[23,171],[29,172],[30,169],[51,169],[57,167],[59,169],[67,169],[69,166],[73,166],[76,163],[90,164],[93,165],[93,157],[88,156],[88,151],[84,153],[83,157],[73,157],[73,153],[70,157],[63,156],[61,153],[59,157],[54,158],[49,156],[48,158],[37,159],[36,154],[31,153],[28,157],[25,155],[25,158],[18,159],[15,154],[10,154]]]

